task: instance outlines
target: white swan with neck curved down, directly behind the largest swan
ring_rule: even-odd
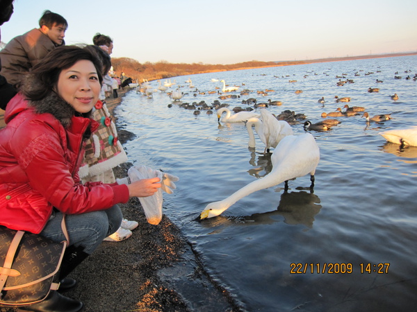
[[[254,148],[256,145],[252,125],[255,126],[255,131],[259,135],[259,139],[265,144],[263,153],[269,153],[270,148],[276,148],[281,139],[284,139],[287,135],[294,134],[291,125],[284,120],[277,120],[268,110],[261,110],[261,119],[262,121],[257,118],[251,118],[246,123],[246,129],[249,135],[249,142],[247,145],[250,148]]]

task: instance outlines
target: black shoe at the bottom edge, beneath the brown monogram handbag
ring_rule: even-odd
[[[51,291],[47,299],[30,306],[21,306],[17,311],[32,312],[80,312],[83,311],[83,302],[60,295],[56,291]]]

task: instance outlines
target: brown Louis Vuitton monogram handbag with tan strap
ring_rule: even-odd
[[[64,216],[65,217],[65,216]],[[0,226],[0,306],[26,306],[58,289],[58,272],[69,243],[55,243],[39,234]]]

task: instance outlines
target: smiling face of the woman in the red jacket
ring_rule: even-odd
[[[79,60],[72,67],[63,69],[58,77],[57,93],[74,110],[90,112],[99,99],[101,85],[94,64]]]

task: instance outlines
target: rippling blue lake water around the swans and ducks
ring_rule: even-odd
[[[400,150],[378,132],[416,125],[417,82],[405,79],[416,72],[414,55],[182,76],[171,79],[177,82],[171,89],[188,92],[181,102],[159,91],[147,98],[132,90],[115,114],[122,128],[136,134],[124,144],[130,162],[180,177],[175,193],[164,193],[163,212],[242,311],[414,311],[417,147]],[[339,117],[342,123],[332,130],[311,131],[320,147],[313,193],[302,189],[309,187],[309,176],[299,177],[289,181],[287,193],[284,184],[263,189],[200,222],[196,218],[209,202],[262,178],[271,165],[257,136],[256,149],[247,147],[243,123],[219,124],[215,112],[195,116],[179,107],[218,99],[193,96],[188,78],[200,92],[222,88],[212,78],[252,91],[220,100],[231,108],[245,107],[243,99],[270,98],[283,102],[268,107],[270,112],[293,110],[317,122],[322,112],[343,107],[337,95],[350,96],[350,106],[366,107],[370,115],[391,113],[393,119]],[[339,79],[354,83],[337,86]],[[380,91],[368,93],[369,87]],[[256,93],[265,89],[274,92]],[[303,92],[295,94],[297,89]],[[391,100],[395,93],[398,101]],[[318,103],[322,96],[324,107]],[[304,132],[302,123],[292,127],[295,134]]]

